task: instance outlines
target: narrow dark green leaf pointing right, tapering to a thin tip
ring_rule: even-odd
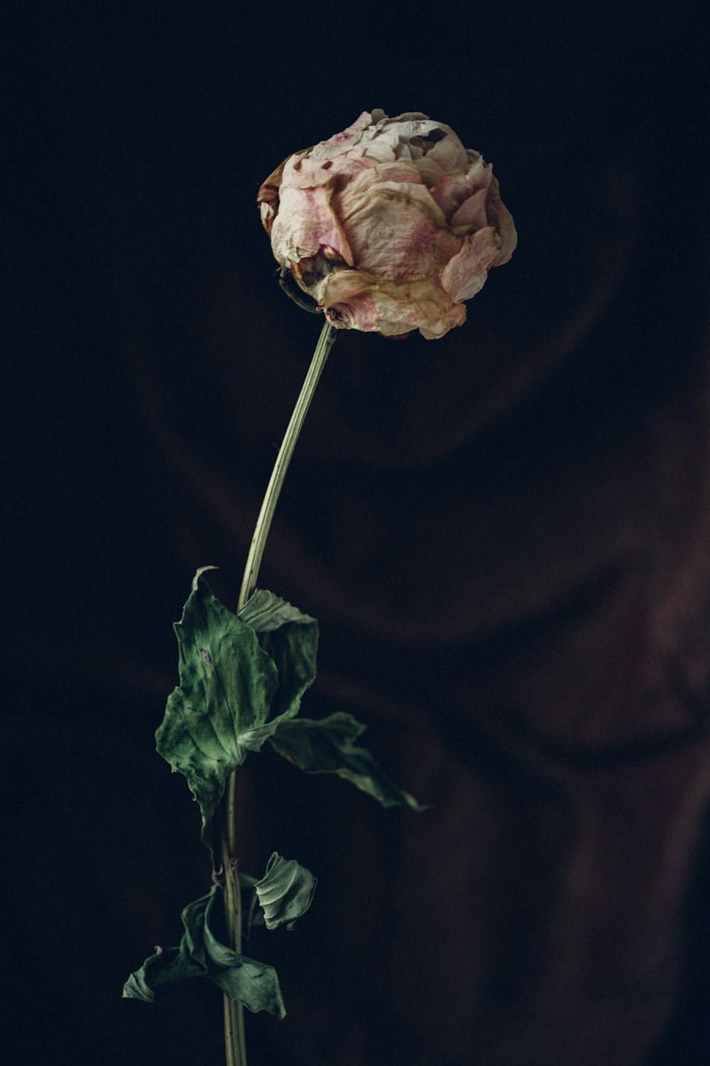
[[[382,772],[370,753],[356,740],[365,726],[339,711],[327,718],[294,718],[279,724],[270,738],[274,748],[309,774],[337,774],[367,792],[383,807],[404,805],[425,810],[414,796],[398,788]]]

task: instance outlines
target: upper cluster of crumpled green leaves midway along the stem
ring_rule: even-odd
[[[264,589],[233,614],[202,577],[212,568],[197,571],[176,623],[180,687],[155,734],[159,753],[184,774],[200,804],[205,845],[218,853],[227,779],[266,740],[309,773],[340,774],[385,806],[422,809],[354,744],[364,727],[349,714],[295,718],[315,678],[315,619]]]

